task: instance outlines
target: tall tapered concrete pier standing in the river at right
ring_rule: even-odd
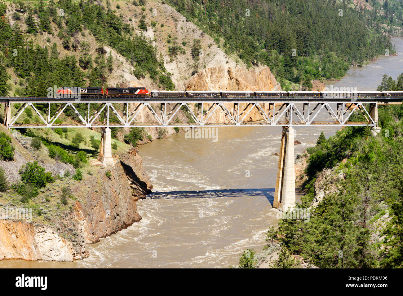
[[[295,206],[294,129],[283,127],[273,207],[287,211]]]

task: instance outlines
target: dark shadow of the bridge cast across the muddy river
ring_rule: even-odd
[[[258,197],[264,196],[273,206],[274,188],[245,188],[245,189],[211,189],[211,190],[182,190],[156,191],[147,195],[147,199],[206,199],[214,197]]]

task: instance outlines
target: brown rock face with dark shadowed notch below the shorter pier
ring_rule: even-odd
[[[89,178],[85,201],[75,202],[75,217],[87,244],[98,242],[100,238],[140,221],[135,201],[144,198],[152,189],[135,149],[121,155],[110,172],[110,178],[105,174]],[[91,190],[96,188],[97,183],[101,187]],[[80,190],[80,187],[74,190]]]

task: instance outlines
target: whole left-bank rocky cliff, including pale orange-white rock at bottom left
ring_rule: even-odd
[[[89,256],[86,244],[140,221],[135,202],[151,192],[152,184],[136,150],[120,155],[108,170],[110,177],[106,176],[105,168],[99,167],[82,181],[66,181],[74,195],[68,210],[44,217],[34,215],[29,222],[1,219],[0,260],[83,259]],[[45,199],[37,202],[48,208],[44,213],[58,210],[47,206],[51,202]],[[8,203],[8,206],[14,205]]]

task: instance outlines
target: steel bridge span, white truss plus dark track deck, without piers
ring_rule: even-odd
[[[337,98],[183,98],[183,97],[96,97],[49,98],[49,97],[0,97],[5,103],[4,124],[8,128],[42,128],[42,127],[164,127],[164,126],[377,126],[378,104],[401,103],[402,98],[386,99],[366,97],[357,99]],[[11,112],[12,105],[20,108]],[[46,103],[47,112],[40,112],[37,103]],[[90,103],[97,103],[96,111],[91,112]],[[52,105],[57,111],[51,113]],[[79,112],[80,110],[85,112]],[[129,106],[131,104],[131,106]],[[193,104],[193,106],[191,106]],[[123,107],[122,107],[123,106]],[[19,122],[21,114],[31,108],[39,117],[39,122]],[[71,108],[79,121],[60,123],[57,120],[67,109]],[[188,122],[173,120],[177,112],[186,110]],[[262,116],[259,122],[248,122],[248,115],[253,110]],[[148,121],[139,114],[150,114]],[[120,111],[120,112],[119,112]],[[365,118],[361,122],[351,122],[350,116],[357,111]],[[222,113],[226,121],[213,122],[212,116]],[[123,116],[122,116],[123,114]],[[111,122],[115,115],[118,122]],[[326,117],[328,119],[323,120]],[[151,118],[151,119],[150,119]],[[116,121],[116,120],[115,120]]]

